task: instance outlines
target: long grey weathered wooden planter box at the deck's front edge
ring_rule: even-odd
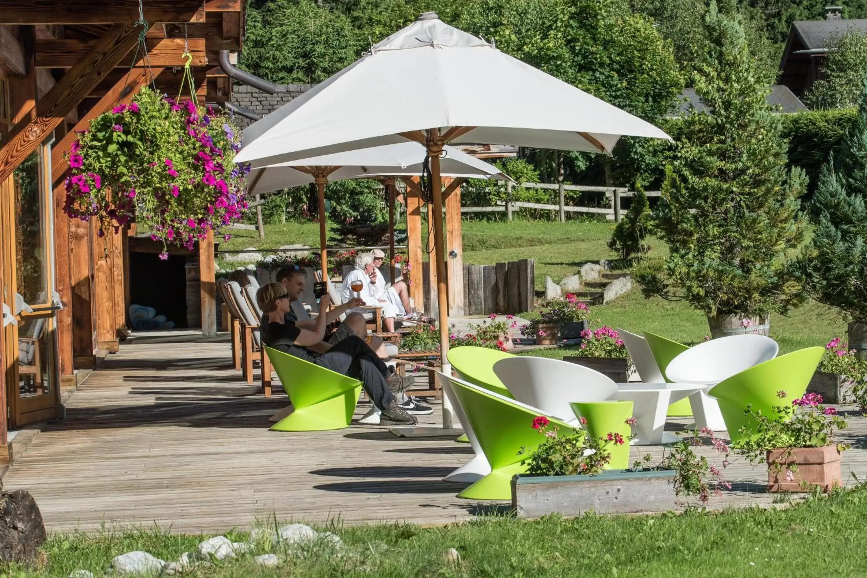
[[[512,508],[518,517],[661,512],[681,506],[675,471],[603,471],[598,476],[512,477]]]

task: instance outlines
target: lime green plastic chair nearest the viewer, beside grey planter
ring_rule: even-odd
[[[532,421],[544,415],[535,407],[507,398],[484,387],[450,378],[452,390],[473,427],[479,446],[491,464],[491,473],[458,494],[473,500],[511,500],[512,476],[526,471],[525,460],[544,441]],[[560,434],[572,427],[545,416]],[[518,451],[524,451],[518,454]]]

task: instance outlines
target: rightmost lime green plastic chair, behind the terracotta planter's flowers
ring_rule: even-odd
[[[737,441],[753,435],[757,422],[744,413],[747,405],[753,412],[779,419],[774,406],[792,406],[792,400],[804,395],[823,354],[825,347],[799,349],[745,369],[712,387],[707,395],[720,403],[728,438]],[[780,398],[780,391],[786,392],[786,397]],[[746,435],[740,433],[741,427],[746,427]]]

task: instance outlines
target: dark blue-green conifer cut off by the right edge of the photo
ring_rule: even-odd
[[[818,179],[813,194],[816,231],[801,260],[813,299],[838,308],[850,323],[867,323],[867,84],[855,124]],[[858,340],[863,341],[863,340]]]

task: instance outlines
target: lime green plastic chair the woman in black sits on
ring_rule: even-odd
[[[318,432],[349,427],[362,382],[310,361],[265,347],[268,359],[292,402],[293,411],[272,432]]]

